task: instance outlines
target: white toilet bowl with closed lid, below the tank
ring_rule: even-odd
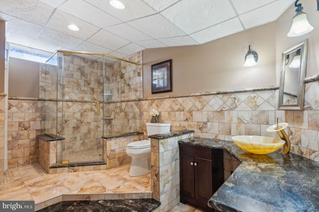
[[[132,177],[151,171],[151,141],[134,141],[127,145],[126,154],[132,157],[129,175]]]

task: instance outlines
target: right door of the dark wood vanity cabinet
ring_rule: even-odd
[[[211,160],[195,157],[195,199],[207,202],[213,196]]]

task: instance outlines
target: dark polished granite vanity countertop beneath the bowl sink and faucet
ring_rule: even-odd
[[[232,141],[188,138],[180,143],[221,148],[241,161],[208,205],[227,212],[318,212],[319,162],[279,151],[246,153]]]

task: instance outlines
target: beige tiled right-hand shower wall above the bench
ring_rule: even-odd
[[[126,58],[142,64],[142,51]],[[126,62],[114,62],[106,67],[105,93],[112,94],[112,98],[104,105],[104,119],[106,134],[119,134],[140,131],[140,110],[138,101],[143,97],[142,66]],[[120,77],[120,75],[123,78]],[[125,83],[128,83],[125,84]],[[107,104],[117,101],[116,104]]]

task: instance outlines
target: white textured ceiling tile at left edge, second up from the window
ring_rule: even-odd
[[[36,38],[42,26],[0,12],[0,18],[7,21],[6,32],[27,38]]]

